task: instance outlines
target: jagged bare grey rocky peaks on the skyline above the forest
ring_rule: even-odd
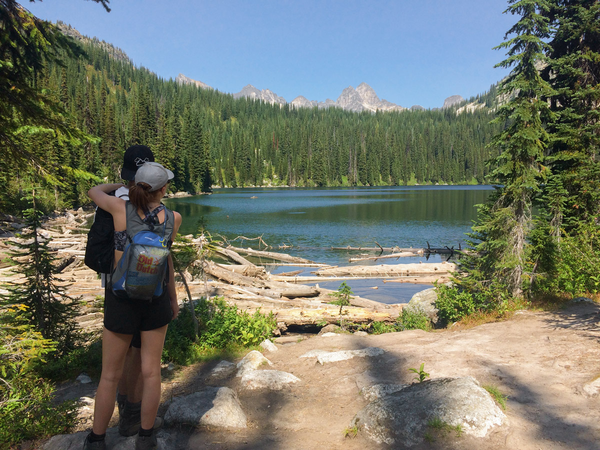
[[[179,84],[193,84],[203,89],[213,89],[206,83],[191,79],[190,77],[187,77],[182,73],[180,73],[175,80]],[[266,103],[279,104],[282,106],[287,103],[285,98],[275,94],[275,92],[271,91],[270,89],[261,90],[255,88],[253,85],[246,85],[244,86],[244,88],[242,88],[241,91],[233,94],[233,98],[242,97],[251,98],[252,100],[262,100]],[[451,95],[450,97],[446,98],[446,100],[444,100],[442,109],[452,107],[455,104],[461,103],[463,101],[464,98],[460,95]],[[377,110],[403,111],[407,109],[406,107],[385,100],[385,98],[379,98],[375,90],[365,82],[362,82],[361,84],[356,86],[356,89],[352,86],[348,86],[347,88],[343,89],[337,100],[331,100],[331,98],[327,98],[325,101],[308,100],[308,98],[304,97],[304,95],[298,95],[298,97],[290,101],[289,104],[296,108],[310,108],[315,106],[319,108],[328,108],[330,106],[337,106],[346,111],[353,112],[362,112],[365,110],[371,112],[376,112]],[[425,110],[425,108],[421,105],[413,105],[410,107],[410,110],[422,111]]]

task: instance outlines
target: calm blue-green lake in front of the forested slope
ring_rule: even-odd
[[[355,188],[224,188],[210,195],[165,199],[181,213],[183,235],[204,227],[217,235],[262,236],[273,251],[292,245],[284,253],[331,265],[349,265],[357,251],[331,247],[431,247],[464,246],[475,205],[484,203],[491,186],[401,186]],[[257,241],[233,245],[258,248]],[[264,247],[263,247],[264,248]],[[375,253],[373,253],[375,254]],[[432,256],[429,262],[440,261]],[[425,257],[399,262],[425,262]],[[369,262],[361,262],[365,264]],[[394,263],[379,260],[373,264]],[[291,271],[289,266],[267,266],[272,273]],[[306,274],[310,273],[307,269]],[[382,280],[346,281],[356,295],[385,303],[406,302],[423,284],[383,283]],[[337,289],[339,282],[319,283]],[[393,286],[391,286],[393,285]],[[378,289],[371,289],[377,286]]]

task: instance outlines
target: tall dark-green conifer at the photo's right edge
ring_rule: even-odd
[[[547,161],[567,191],[561,224],[570,232],[600,215],[600,4],[552,4],[547,16],[556,31],[545,79],[554,88],[554,116]]]

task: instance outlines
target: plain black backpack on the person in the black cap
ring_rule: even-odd
[[[109,193],[114,196],[115,191]],[[85,246],[83,262],[93,271],[110,274],[115,259],[115,224],[112,214],[104,209],[96,208],[94,223],[88,233],[88,244]]]

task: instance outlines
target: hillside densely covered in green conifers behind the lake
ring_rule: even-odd
[[[114,180],[133,143],[150,146],[173,170],[173,191],[193,193],[214,186],[481,183],[488,173],[485,146],[499,130],[488,108],[373,114],[235,100],[160,79],[104,42],[77,44],[85,53],[64,55],[63,66],[46,62],[35,87],[62,103],[71,125],[97,139],[63,139],[52,130],[22,136],[43,169],[62,181],[38,190],[46,209],[86,202],[83,193],[98,180],[71,169]],[[2,207],[19,209],[29,175],[14,167],[2,176],[8,186]]]

